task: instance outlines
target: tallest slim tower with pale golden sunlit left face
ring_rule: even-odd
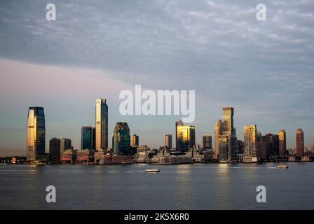
[[[108,105],[106,99],[96,100],[96,144],[95,151],[108,148]]]

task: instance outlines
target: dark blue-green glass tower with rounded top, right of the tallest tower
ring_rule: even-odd
[[[128,123],[116,123],[114,136],[112,137],[112,148],[114,148],[116,155],[128,155],[131,153],[130,129]]]

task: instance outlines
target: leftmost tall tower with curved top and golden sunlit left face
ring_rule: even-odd
[[[27,115],[27,161],[45,154],[46,127],[43,107],[29,107]]]

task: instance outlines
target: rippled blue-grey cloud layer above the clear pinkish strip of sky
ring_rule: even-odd
[[[55,22],[46,21],[47,3],[57,7]],[[258,3],[267,6],[264,22],[255,18]],[[250,111],[254,123],[296,129],[314,120],[313,12],[306,0],[3,0],[0,57],[97,69],[154,90],[196,90],[204,102]],[[214,123],[221,115],[208,116]]]

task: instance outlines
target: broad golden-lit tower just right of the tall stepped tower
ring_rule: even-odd
[[[245,126],[243,133],[243,162],[257,162],[257,125]]]

